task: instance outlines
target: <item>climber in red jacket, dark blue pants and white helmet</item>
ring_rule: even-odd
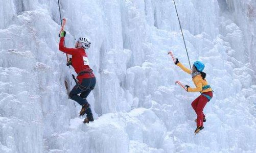
[[[94,121],[92,116],[90,104],[86,100],[86,97],[90,94],[91,90],[95,88],[96,78],[92,69],[89,66],[89,60],[86,55],[86,50],[90,47],[90,40],[84,37],[80,37],[76,42],[75,48],[67,48],[64,46],[66,32],[62,31],[60,34],[59,50],[66,54],[72,55],[72,66],[77,72],[77,84],[69,93],[69,97],[82,106],[80,116],[86,114],[84,123]],[[80,93],[80,95],[78,95]]]

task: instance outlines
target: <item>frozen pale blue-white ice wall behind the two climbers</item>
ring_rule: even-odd
[[[190,59],[215,91],[196,136],[199,94],[175,87],[193,84],[167,56],[189,66],[172,1],[60,1],[66,45],[92,42],[88,125],[66,95],[57,2],[0,0],[0,152],[256,151],[254,1],[176,1]]]

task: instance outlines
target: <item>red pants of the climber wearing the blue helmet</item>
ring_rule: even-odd
[[[204,92],[203,94],[213,97],[212,91]],[[203,126],[203,118],[205,117],[205,115],[203,114],[203,108],[207,104],[208,101],[209,101],[209,99],[206,96],[200,95],[191,104],[191,106],[193,107],[193,109],[195,110],[195,112],[197,114],[197,122],[196,122],[197,126]]]

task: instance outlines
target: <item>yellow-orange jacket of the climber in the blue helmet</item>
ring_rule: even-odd
[[[187,67],[183,66],[180,62],[177,64],[183,71],[191,74],[191,70],[188,69]],[[209,91],[213,91],[211,88],[205,89],[203,90],[203,87],[208,85],[207,81],[203,78],[201,75],[196,75],[196,77],[194,77],[193,79],[194,84],[196,85],[196,88],[188,88],[188,92],[209,92]]]

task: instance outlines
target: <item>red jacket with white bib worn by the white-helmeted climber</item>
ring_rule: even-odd
[[[64,37],[61,37],[59,50],[66,54],[72,55],[72,66],[74,67],[77,74],[84,69],[90,68],[89,60],[87,58],[84,48],[80,48],[80,47],[67,48],[64,46]],[[79,83],[81,83],[84,78],[91,78],[91,77],[95,77],[95,75],[93,73],[91,75],[89,73],[84,73],[84,74],[78,75],[77,79],[79,80]]]

